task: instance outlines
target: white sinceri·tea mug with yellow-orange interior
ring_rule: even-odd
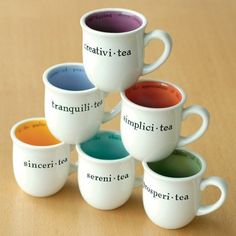
[[[70,164],[70,145],[57,140],[42,117],[20,121],[10,133],[13,170],[20,188],[35,197],[58,192],[74,171]]]

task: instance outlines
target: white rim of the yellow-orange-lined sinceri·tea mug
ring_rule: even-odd
[[[52,145],[47,145],[47,146],[37,146],[37,145],[32,145],[32,144],[25,143],[25,142],[21,141],[20,139],[18,139],[16,137],[16,129],[20,125],[22,125],[24,123],[27,123],[27,122],[30,122],[30,121],[37,121],[37,120],[44,120],[47,123],[45,117],[31,117],[31,118],[27,118],[27,119],[24,119],[24,120],[21,120],[21,121],[18,121],[17,123],[15,123],[12,126],[11,131],[10,131],[10,136],[12,138],[13,144],[17,144],[17,145],[20,145],[24,148],[34,149],[34,150],[53,149],[53,148],[57,148],[57,147],[65,145],[64,142],[58,140],[59,141],[58,144],[52,144]]]

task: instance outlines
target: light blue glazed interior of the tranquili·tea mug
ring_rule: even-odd
[[[89,81],[83,66],[60,65],[52,68],[47,74],[48,82],[60,89],[82,91],[95,86]]]

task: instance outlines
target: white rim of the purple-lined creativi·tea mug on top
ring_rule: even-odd
[[[92,28],[90,28],[86,23],[86,18],[89,17],[92,14],[96,14],[96,13],[101,13],[101,12],[125,12],[125,13],[129,13],[129,14],[133,14],[137,17],[139,17],[142,20],[142,24],[134,29],[134,30],[130,30],[128,32],[120,32],[120,33],[111,33],[111,32],[103,32],[103,31],[99,31],[99,30],[94,30]],[[94,34],[98,34],[98,35],[106,35],[106,36],[111,36],[111,37],[116,37],[116,36],[121,36],[121,35],[127,35],[127,34],[133,34],[136,33],[137,31],[143,29],[146,27],[147,25],[147,19],[146,17],[134,10],[130,10],[130,9],[125,9],[125,8],[100,8],[100,9],[95,9],[89,12],[86,12],[84,15],[82,15],[82,17],[80,18],[80,25],[82,27],[82,29],[87,30],[90,33],[94,33]]]

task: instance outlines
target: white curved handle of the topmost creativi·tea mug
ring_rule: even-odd
[[[149,33],[145,33],[144,35],[144,45],[147,46],[147,44],[152,39],[159,39],[164,43],[164,51],[161,54],[161,56],[154,61],[151,64],[144,64],[142,75],[145,75],[147,73],[150,73],[154,71],[157,67],[159,67],[162,63],[164,63],[167,58],[169,57],[172,49],[172,40],[170,35],[162,30],[153,30]]]

